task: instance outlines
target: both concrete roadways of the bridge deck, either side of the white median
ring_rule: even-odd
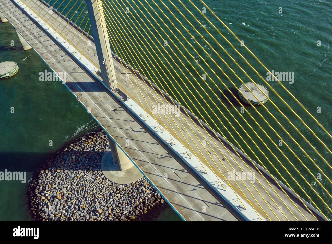
[[[33,6],[34,9],[37,8],[39,4],[40,2],[38,0],[32,0],[29,6]],[[34,10],[39,13],[43,7],[44,5],[41,4],[38,10]],[[63,50],[61,50],[61,48],[59,48],[59,46],[57,46],[52,40],[50,40],[27,16],[25,16],[21,12],[21,10],[19,10],[12,3],[12,1],[1,1],[0,11],[8,18],[8,20],[24,36],[24,38],[33,46],[33,48],[39,53],[39,55],[52,68],[53,71],[67,73],[66,85],[72,91],[72,93],[80,98],[80,101],[85,107],[91,108],[91,114],[98,120],[98,122],[104,127],[104,129],[107,130],[109,134],[119,143],[119,145],[121,145],[124,151],[143,171],[145,176],[154,184],[154,186],[161,192],[161,194],[168,200],[168,202],[172,204],[172,206],[181,214],[184,219],[190,218],[190,220],[242,220],[242,217],[239,217],[238,214],[234,212],[234,209],[232,209],[228,203],[220,199],[220,197],[218,196],[213,196],[203,186],[203,182],[200,182],[198,179],[196,179],[174,158],[170,157],[168,152],[162,146],[160,146],[154,138],[152,138],[148,133],[142,130],[141,126],[137,122],[133,121],[133,119],[121,107],[119,107],[119,105],[107,94],[107,92],[101,86],[95,83],[88,74],[86,74],[69,56],[67,56],[63,52]],[[48,8],[44,8],[41,16],[43,14],[47,15],[46,11],[48,11]],[[50,17],[48,23],[51,24],[56,17],[57,15],[53,15],[52,17]],[[56,20],[56,26],[60,23],[58,21],[60,18],[62,17],[59,17]],[[74,37],[71,43],[76,46],[79,42],[78,47],[81,50],[86,39],[86,33],[82,36],[82,38],[80,38],[80,35],[75,35],[76,27],[71,29],[71,25],[66,24],[67,22],[62,21],[57,30],[62,31],[64,29],[62,31],[62,35],[66,36],[69,40],[72,40],[72,38]],[[85,46],[84,55],[90,58],[91,61],[95,63],[95,65],[98,65],[98,60],[97,56],[95,56],[95,53],[95,46],[93,41],[91,41],[91,46]],[[136,90],[138,90],[138,88],[132,87],[130,81],[126,79],[126,74],[130,74],[132,71],[123,68],[123,65],[119,59],[115,59],[114,61],[119,88],[130,98],[136,101],[140,107],[144,106],[147,108],[149,106],[150,108],[152,108],[152,105],[155,105],[157,107],[158,103],[167,104],[166,100],[160,94],[158,97],[155,90],[151,89],[151,87],[148,87],[144,80],[139,81],[138,78],[136,78],[133,74],[133,76],[135,77],[134,79],[139,85],[141,91],[143,91],[144,88],[147,92],[147,95],[145,94],[145,92],[143,92],[143,94],[137,93],[137,95],[134,88]],[[136,86],[135,82],[131,78],[131,75],[129,76],[134,86]],[[145,102],[143,102],[143,104],[140,104],[139,101],[144,101],[143,96],[145,97],[145,99],[147,99],[147,101],[149,101],[149,96],[153,104],[146,105],[144,104]],[[224,155],[226,155],[227,159],[229,160],[235,171],[248,171],[241,158],[236,155],[236,153],[230,148],[229,145],[226,144],[225,146],[229,151],[231,151],[231,155],[240,165],[241,169],[229,156],[229,153],[224,149],[224,146],[220,143],[219,140],[214,137],[210,139],[207,136],[207,132],[204,130],[204,128],[202,128],[199,124],[195,125],[194,122],[191,122],[191,120],[185,113],[181,113],[183,114],[183,117],[186,118],[186,121],[189,123],[189,126],[192,129],[189,128],[187,122],[185,122],[182,116],[178,118],[184,125],[188,126],[186,127],[186,129],[197,145],[197,147],[194,146],[193,141],[188,140],[190,146],[192,146],[191,152],[193,154],[196,154],[196,156],[200,158],[201,162],[204,163],[206,168],[208,168],[208,166],[204,160],[204,157],[207,160],[213,158],[217,163],[219,169],[226,177],[228,175],[228,171],[233,171],[227,161],[223,161],[224,165],[227,168],[225,169],[217,160],[217,157],[219,157],[220,159],[224,158],[220,153],[221,151]],[[149,116],[153,118],[151,113],[149,114]],[[155,116],[156,119],[159,119],[159,116]],[[174,129],[172,129],[167,120],[164,119],[164,115],[162,115],[162,118],[166,124],[163,124],[162,126],[164,128],[167,128],[171,132],[172,136],[174,136],[178,141],[181,140],[187,144],[186,139],[182,135],[182,133],[186,135],[187,132],[185,132],[186,129],[184,129],[182,125],[177,122],[179,119],[172,114],[167,114],[166,116]],[[177,126],[173,122],[171,116],[174,121],[177,122]],[[158,122],[162,123],[161,121]],[[198,129],[196,128],[196,126],[198,127]],[[198,133],[198,130],[200,130],[200,132],[204,136],[202,136],[201,133]],[[196,138],[193,131],[196,133],[198,138]],[[186,138],[189,137],[186,135]],[[129,139],[129,146],[125,145],[126,139]],[[201,143],[203,140],[206,140],[211,145],[216,155],[209,147],[207,148],[209,152],[206,152],[204,146]],[[201,153],[198,149],[201,151]],[[247,162],[247,160],[245,160],[245,162]],[[209,164],[211,166],[213,164],[213,170],[222,181],[223,178],[221,177],[214,163],[212,161],[209,161]],[[259,212],[259,214],[264,218],[266,218],[264,214],[265,211],[271,220],[278,220],[277,217],[279,218],[279,220],[286,220],[285,216],[289,220],[295,220],[294,216],[290,213],[285,204],[282,203],[282,201],[275,194],[274,191],[276,191],[278,195],[283,199],[283,201],[287,204],[287,206],[291,209],[296,218],[298,220],[305,220],[295,208],[295,206],[290,202],[286,194],[284,194],[274,182],[270,182],[274,189],[273,191],[263,179],[262,175],[251,164],[249,165],[249,167],[255,173],[256,178],[261,182],[261,184],[264,186],[264,188],[270,194],[273,200],[277,203],[277,205],[273,203],[271,197],[269,197],[268,194],[265,193],[263,187],[257,182],[257,180],[254,185],[257,190],[262,194],[262,197],[265,199],[267,204],[264,202],[263,198],[257,194],[256,190],[253,187],[253,184],[250,183],[250,181],[244,183],[242,183],[241,181],[237,181],[241,190],[238,189],[234,182],[231,181],[230,183],[236,189],[236,193],[240,197],[242,195],[241,191],[243,191],[243,194],[254,205],[257,212]],[[168,175],[167,180],[165,180],[163,177],[165,173],[167,173]],[[268,179],[270,180],[270,178]],[[248,192],[244,184],[246,184],[246,186],[254,194],[256,200],[264,208],[264,211],[262,207],[260,207],[256,203],[255,199]],[[225,183],[224,186],[226,187],[227,191],[230,190],[229,185]],[[243,196],[242,199],[244,199]],[[300,209],[300,211],[308,220],[314,220],[312,215],[307,212],[307,210],[298,200],[294,199],[294,197],[292,196],[291,199],[296,203],[296,207]],[[249,205],[247,200],[245,200],[244,204]],[[204,206],[206,207],[206,212],[203,211]],[[279,210],[278,206],[282,206],[282,212]],[[316,217],[321,220],[320,217]]]

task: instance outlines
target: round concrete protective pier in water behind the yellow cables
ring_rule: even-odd
[[[268,101],[268,97],[269,97],[269,91],[268,89],[266,89],[264,86],[262,86],[261,84],[254,84],[251,82],[245,83],[245,85],[250,89],[250,91],[255,94],[255,96],[259,99],[259,101],[264,104]],[[242,84],[239,88],[239,98],[245,102],[246,104],[252,104],[254,106],[260,106],[261,103],[253,96],[253,94],[251,94],[251,92],[248,90],[248,88],[245,86],[244,84]],[[258,87],[265,93],[261,92]],[[249,100],[249,102],[246,100],[246,98]]]

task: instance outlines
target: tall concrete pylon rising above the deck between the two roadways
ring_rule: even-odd
[[[102,3],[100,0],[86,0],[86,5],[89,12],[103,83],[111,90],[116,90],[118,83],[115,76]]]

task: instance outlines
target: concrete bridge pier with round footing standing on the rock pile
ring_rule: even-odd
[[[107,136],[110,149],[102,158],[101,168],[107,179],[117,184],[130,184],[142,178],[142,173],[121,148]]]

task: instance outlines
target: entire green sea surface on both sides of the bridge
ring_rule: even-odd
[[[49,1],[59,11],[62,11],[68,2],[69,0],[65,0],[59,6],[60,1]],[[160,88],[165,89],[185,107],[192,109],[195,115],[205,120],[219,133],[223,133],[230,142],[242,148],[256,162],[266,165],[272,174],[281,179],[269,163],[270,160],[296,192],[310,202],[295,183],[291,183],[291,176],[294,177],[324,214],[329,218],[332,217],[327,207],[318,197],[314,196],[315,194],[309,185],[319,193],[327,205],[332,206],[332,199],[302,165],[303,163],[316,176],[321,171],[316,168],[312,163],[313,161],[325,172],[327,177],[332,178],[332,170],[328,165],[332,162],[332,156],[296,118],[294,113],[300,116],[303,122],[329,148],[331,148],[332,139],[276,81],[268,82],[276,91],[274,93],[270,87],[268,88],[271,100],[311,142],[313,148],[319,151],[327,163],[315,153],[314,149],[306,143],[271,102],[266,104],[267,110],[263,107],[257,108],[262,117],[250,106],[242,105],[248,111],[243,113],[243,117],[253,128],[251,129],[234,110],[234,107],[238,111],[241,109],[241,106],[232,96],[232,94],[237,96],[237,90],[222,73],[222,70],[236,86],[240,86],[242,83],[220,59],[222,57],[241,80],[250,82],[250,79],[224,52],[222,49],[224,47],[247,74],[253,77],[255,82],[267,87],[264,81],[222,38],[220,34],[224,35],[239,50],[264,79],[267,77],[266,70],[226,30],[220,22],[222,21],[241,41],[244,41],[244,44],[269,70],[294,72],[293,83],[290,84],[288,81],[281,81],[281,83],[329,133],[332,133],[331,1],[206,0],[204,1],[206,5],[220,19],[219,21],[206,9],[204,15],[210,23],[188,1],[182,2],[193,13],[193,16],[180,1],[176,0],[163,0],[162,2],[160,0],[140,0],[135,1],[135,3],[131,0],[103,2],[105,2],[105,12],[109,20],[106,22],[110,31],[111,48],[117,55],[124,58],[133,67],[139,67],[140,72],[146,77]],[[64,9],[63,14],[66,15],[67,12],[69,12],[68,16],[75,14],[72,21],[88,31],[89,23],[86,25],[87,27],[85,26],[88,19],[86,9],[83,8],[85,4],[83,3],[77,9],[81,1],[78,1],[76,5],[74,3],[75,1],[71,1]],[[193,1],[193,3],[200,11],[205,7],[201,1]],[[73,8],[70,10],[71,7]],[[127,14],[125,7],[128,7],[130,11],[128,17],[124,17]],[[282,13],[280,8],[282,8]],[[163,12],[169,19],[163,15]],[[82,14],[79,16],[80,13]],[[157,23],[154,22],[155,20]],[[117,24],[112,26],[111,23]],[[169,49],[163,48],[165,41],[167,41]],[[14,46],[11,45],[13,42]],[[318,42],[320,46],[317,45]],[[215,63],[212,59],[215,60]],[[0,23],[0,62],[7,60],[15,61],[19,66],[19,72],[12,78],[0,80],[0,171],[4,169],[7,171],[26,171],[27,178],[30,179],[31,174],[52,153],[74,138],[98,128],[99,125],[61,82],[39,81],[39,72],[50,71],[49,67],[33,49],[23,50],[10,23]],[[166,65],[164,66],[163,63]],[[199,72],[196,73],[195,69]],[[201,79],[202,73],[206,75],[206,83]],[[172,78],[173,76],[174,78]],[[185,86],[188,89],[182,91],[181,87]],[[278,98],[277,94],[283,98],[285,103]],[[209,104],[211,109],[208,109],[205,102]],[[294,113],[287,106],[290,106]],[[14,113],[11,113],[12,107],[14,107]],[[318,107],[320,107],[320,113],[317,113]],[[249,115],[255,118],[271,140]],[[234,124],[234,128],[228,124],[225,118]],[[264,122],[263,118],[271,127]],[[236,123],[235,119],[239,124]],[[257,147],[253,146],[249,136],[241,129],[240,125],[257,143]],[[293,139],[289,138],[280,125],[289,131]],[[241,136],[236,134],[235,129]],[[279,147],[280,150],[277,148],[278,146],[274,145],[274,143],[278,145],[280,142],[273,129],[283,138],[284,145]],[[267,147],[271,148],[271,152],[259,140],[254,131],[263,139]],[[52,140],[52,146],[49,146],[50,140]],[[252,151],[245,142],[250,145]],[[287,148],[286,144],[298,158]],[[312,161],[302,152],[300,147]],[[282,153],[289,158],[289,161]],[[290,175],[279,164],[278,159],[289,170]],[[293,169],[290,162],[303,177]],[[321,183],[331,192],[331,184],[324,176],[322,176]],[[28,212],[27,186],[27,183],[0,181],[0,220],[31,219]],[[146,219],[180,220],[174,210],[167,205],[161,210],[156,209],[150,216],[146,216]]]

